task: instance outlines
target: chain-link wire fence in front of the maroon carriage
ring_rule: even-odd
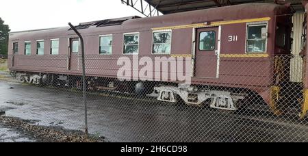
[[[5,91],[17,105],[8,116],[84,129],[79,55],[8,60],[24,82]],[[86,55],[89,132],[112,142],[307,142],[304,67],[299,55]]]

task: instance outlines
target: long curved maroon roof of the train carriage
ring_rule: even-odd
[[[274,16],[276,14],[285,14],[285,5],[277,5],[272,3],[250,3],[242,5],[230,5],[223,8],[210,8],[207,10],[196,10],[190,12],[180,12],[176,14],[168,14],[164,16],[153,16],[149,18],[129,18],[128,20],[112,27],[90,26],[87,29],[80,29],[81,33],[89,31],[113,31],[114,29],[149,29],[151,27],[164,27],[170,25],[183,25],[211,21],[228,21],[244,18],[259,18],[266,16]],[[122,18],[120,18],[122,19]],[[82,23],[81,23],[82,24]],[[85,24],[85,23],[83,23]],[[88,23],[86,23],[88,24]],[[73,31],[69,31],[70,27],[57,27],[51,29],[38,29],[31,31],[11,32],[10,38],[24,38],[39,36],[63,36],[63,34],[73,35]],[[97,29],[95,29],[97,28]]]

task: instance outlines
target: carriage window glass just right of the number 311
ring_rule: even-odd
[[[267,36],[262,30],[266,29],[267,25],[248,25],[247,31],[247,53],[264,53],[266,52]]]

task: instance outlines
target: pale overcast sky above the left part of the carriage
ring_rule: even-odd
[[[142,16],[120,0],[0,0],[0,17],[12,31],[78,25],[124,16]]]

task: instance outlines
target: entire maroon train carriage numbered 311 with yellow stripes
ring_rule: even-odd
[[[190,75],[190,86],[177,86],[181,81],[171,79],[135,79],[133,88],[136,86],[137,92],[155,90],[151,95],[159,101],[175,103],[181,99],[188,105],[211,101],[211,107],[227,110],[237,110],[238,101],[253,92],[280,114],[280,84],[288,80],[279,74],[290,64],[277,66],[279,58],[275,57],[291,53],[291,19],[292,10],[287,5],[250,3],[81,23],[77,29],[85,40],[88,89],[126,92],[125,88],[131,88],[117,79],[120,57],[189,57],[192,70],[185,68],[178,74]],[[156,42],[154,36],[167,39]],[[164,50],[157,44],[164,45]],[[79,39],[69,27],[13,32],[9,47],[10,70],[21,81],[80,88]],[[170,70],[166,72],[170,74]]]

